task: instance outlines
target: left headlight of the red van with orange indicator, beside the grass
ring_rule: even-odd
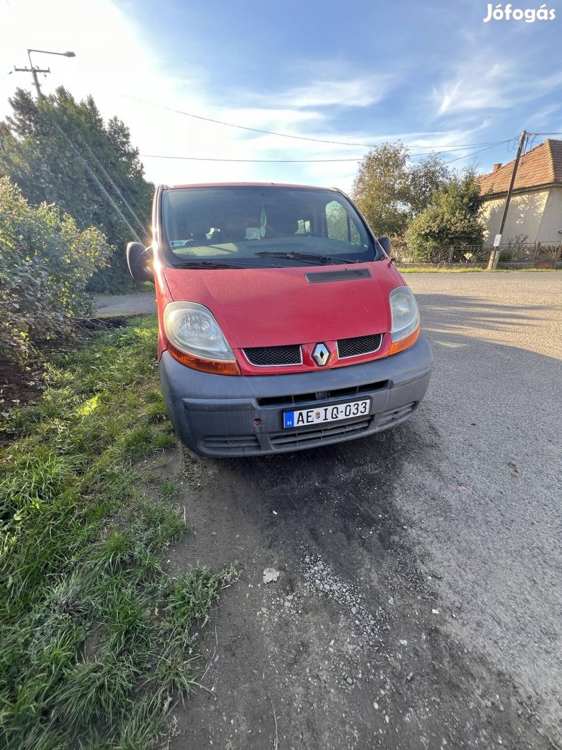
[[[238,375],[234,352],[208,308],[197,302],[170,302],[164,308],[164,332],[169,352],[196,370]]]

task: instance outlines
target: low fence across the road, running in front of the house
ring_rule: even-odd
[[[447,245],[437,249],[410,250],[393,245],[393,257],[400,266],[486,266],[492,252],[490,245]],[[500,264],[535,268],[555,268],[562,261],[562,242],[519,242],[500,245]]]

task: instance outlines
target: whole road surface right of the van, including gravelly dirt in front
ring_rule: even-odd
[[[562,274],[407,281],[435,355],[410,422],[169,457],[170,571],[242,568],[176,750],[562,746]]]

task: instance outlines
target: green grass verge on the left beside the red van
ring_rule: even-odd
[[[187,532],[135,487],[174,444],[154,318],[46,364],[40,403],[0,452],[0,734],[7,750],[148,748],[196,687],[196,631],[235,575],[160,562]],[[148,481],[154,472],[146,470]],[[168,502],[164,502],[164,501]]]

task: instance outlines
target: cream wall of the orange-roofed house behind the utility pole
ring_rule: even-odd
[[[562,229],[562,225],[556,227],[555,236],[542,236],[543,215],[547,206],[549,216],[552,213],[553,218],[549,218],[544,231],[552,234],[552,229],[555,223],[554,216],[557,211],[557,206],[555,205],[556,198],[554,200],[549,200],[549,193],[552,190],[559,190],[559,192],[562,193],[562,188],[554,187],[547,188],[546,190],[528,190],[526,193],[513,194],[511,197],[510,210],[507,212],[507,221],[502,236],[502,244],[508,242],[513,237],[522,234],[528,235],[527,242],[546,242],[548,240],[557,239],[556,233],[558,233],[558,229]],[[505,196],[502,196],[501,198],[492,198],[484,203],[483,216],[486,220],[486,226],[488,229],[488,233],[485,237],[486,242],[492,242],[494,237],[498,234],[501,217],[504,213],[504,206]],[[558,208],[559,207],[560,206],[558,206]],[[558,239],[562,239],[562,235],[558,235]]]

